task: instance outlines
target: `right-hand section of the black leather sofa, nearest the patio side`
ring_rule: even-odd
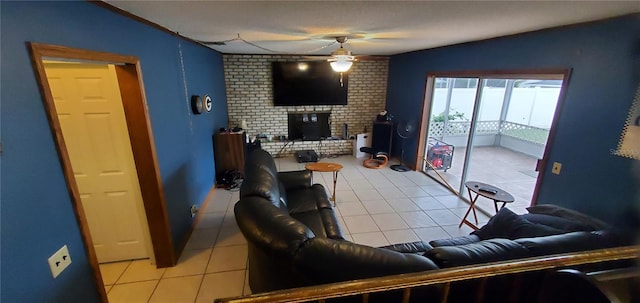
[[[555,212],[555,215],[550,213]],[[530,207],[516,215],[501,209],[468,236],[430,241],[425,256],[447,268],[632,244],[608,224],[558,206]]]

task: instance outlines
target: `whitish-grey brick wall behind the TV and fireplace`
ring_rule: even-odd
[[[227,88],[230,126],[247,121],[248,134],[287,135],[288,112],[331,112],[331,134],[341,136],[342,125],[348,125],[349,134],[371,130],[376,115],[384,110],[387,95],[388,61],[358,61],[349,71],[349,92],[347,105],[325,106],[273,106],[271,87],[271,62],[295,61],[299,56],[282,55],[223,55],[224,76]],[[323,153],[351,153],[351,143],[323,143]],[[275,154],[284,146],[281,142],[263,144]],[[296,142],[294,149],[317,149],[318,142]],[[284,154],[293,150],[286,148]]]

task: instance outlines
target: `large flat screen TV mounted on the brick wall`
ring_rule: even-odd
[[[347,105],[348,75],[326,61],[272,62],[273,105]]]

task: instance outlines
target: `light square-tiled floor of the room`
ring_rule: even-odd
[[[388,167],[367,169],[352,156],[325,158],[344,166],[338,176],[336,212],[348,240],[383,246],[467,235],[458,228],[468,204],[420,172]],[[293,157],[276,159],[280,171],[304,169]],[[333,190],[331,173],[314,173],[314,183]],[[149,260],[100,265],[109,302],[213,302],[250,294],[247,243],[233,214],[239,193],[216,189],[199,213],[196,227],[172,268]],[[478,213],[480,225],[489,218]]]

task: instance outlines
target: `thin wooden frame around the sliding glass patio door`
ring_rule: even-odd
[[[564,103],[565,95],[567,92],[567,86],[569,85],[569,79],[571,76],[571,68],[549,68],[549,69],[530,69],[530,70],[485,70],[485,71],[461,71],[461,72],[438,72],[438,73],[429,73],[425,78],[425,89],[423,92],[422,99],[422,116],[420,117],[420,129],[418,136],[418,146],[416,150],[416,159],[415,159],[415,170],[422,170],[423,165],[418,165],[417,163],[422,163],[424,161],[423,155],[426,149],[426,135],[429,131],[429,121],[431,117],[431,102],[427,100],[427,98],[431,98],[433,95],[433,80],[435,78],[448,77],[448,78],[518,78],[518,76],[527,76],[527,78],[532,78],[535,76],[539,79],[555,79],[558,75],[562,75],[562,86],[560,87],[560,94],[558,95],[558,103],[556,104],[555,112],[553,113],[553,119],[551,120],[551,129],[549,130],[549,137],[547,138],[547,143],[544,147],[544,152],[542,153],[542,159],[538,160],[536,165],[536,171],[538,171],[538,178],[536,179],[536,185],[533,189],[533,197],[531,198],[531,205],[535,205],[538,200],[538,192],[540,190],[540,185],[542,184],[542,180],[544,177],[544,172],[547,167],[547,163],[549,161],[549,154],[551,153],[551,144],[549,142],[553,142],[556,133],[556,126],[558,125],[558,118],[560,117],[560,112],[562,110],[562,104]],[[439,182],[439,181],[438,181]]]

